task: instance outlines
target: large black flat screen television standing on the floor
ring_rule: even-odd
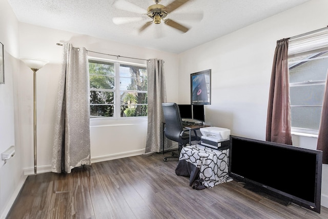
[[[275,201],[320,213],[322,151],[230,136],[229,176]]]

